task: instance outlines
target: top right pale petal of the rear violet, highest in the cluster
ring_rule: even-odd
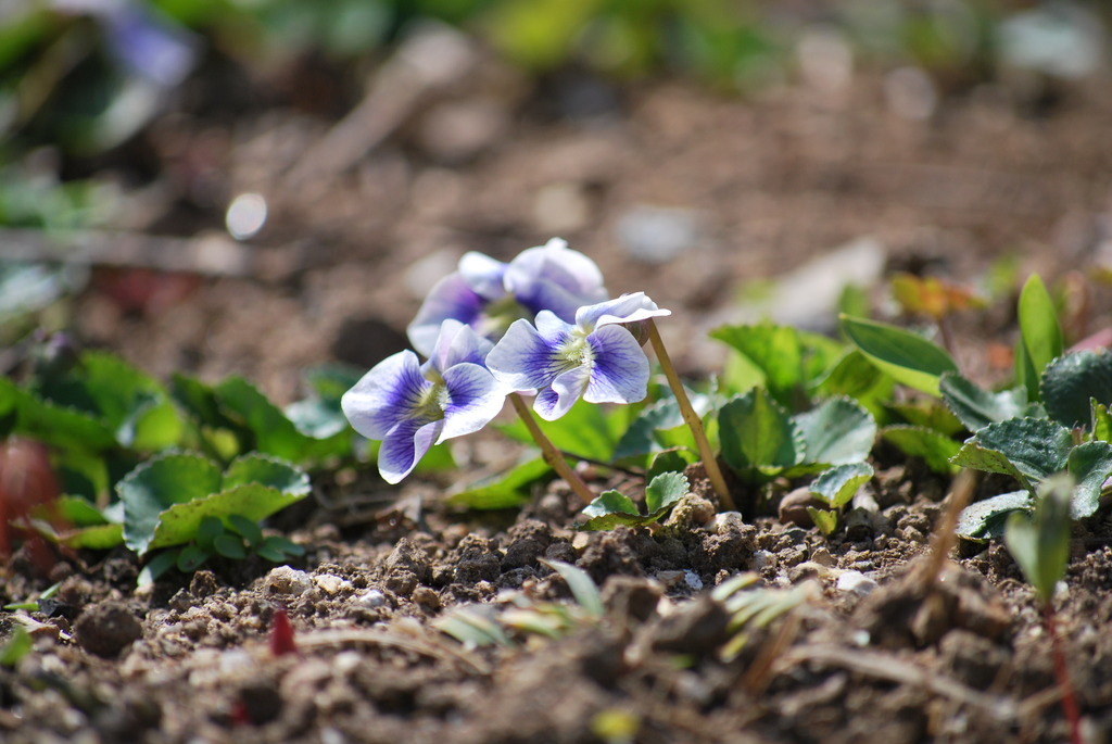
[[[518,254],[506,268],[505,285],[534,314],[552,310],[567,321],[578,307],[607,296],[598,266],[559,238]]]

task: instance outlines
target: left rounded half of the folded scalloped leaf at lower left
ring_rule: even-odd
[[[220,469],[200,455],[162,455],[128,474],[116,490],[123,502],[123,542],[143,555],[151,547],[162,513],[175,504],[220,490]],[[179,542],[191,539],[196,527],[195,524],[190,534]]]

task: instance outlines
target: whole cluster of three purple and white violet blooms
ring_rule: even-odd
[[[375,365],[341,398],[351,426],[381,440],[388,483],[435,444],[478,431],[515,393],[546,420],[576,400],[636,403],[647,393],[643,324],[671,315],[644,292],[607,299],[598,267],[558,238],[508,264],[468,252],[437,282],[408,335],[417,354]]]

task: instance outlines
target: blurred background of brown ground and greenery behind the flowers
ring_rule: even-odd
[[[0,367],[64,330],[289,400],[404,348],[464,251],[553,236],[672,307],[688,370],[693,327],[907,311],[895,272],[991,308],[1042,271],[1082,337],[1109,6],[0,0]]]

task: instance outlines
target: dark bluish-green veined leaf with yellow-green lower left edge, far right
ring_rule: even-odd
[[[1011,418],[990,424],[966,439],[954,465],[1004,473],[1024,488],[1065,468],[1073,447],[1070,429],[1045,418]]]

